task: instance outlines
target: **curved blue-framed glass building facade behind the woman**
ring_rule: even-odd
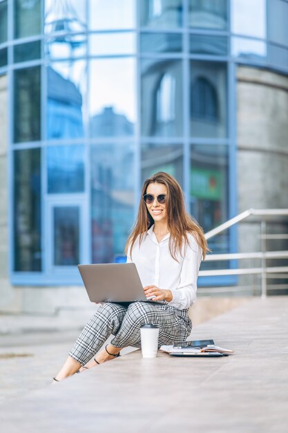
[[[236,68],[287,75],[287,22],[286,0],[0,0],[12,284],[124,261],[160,170],[205,232],[234,216]]]

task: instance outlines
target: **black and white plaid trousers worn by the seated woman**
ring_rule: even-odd
[[[85,365],[111,334],[115,347],[141,347],[140,327],[146,323],[160,327],[159,347],[186,340],[192,329],[188,309],[148,302],[132,302],[128,306],[108,302],[91,317],[69,355]]]

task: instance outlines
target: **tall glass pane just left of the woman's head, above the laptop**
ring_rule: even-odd
[[[91,166],[92,261],[111,263],[124,255],[134,222],[134,146],[95,145]]]

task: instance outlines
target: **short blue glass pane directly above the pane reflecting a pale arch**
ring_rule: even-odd
[[[142,33],[140,49],[142,53],[179,53],[182,51],[182,34]]]

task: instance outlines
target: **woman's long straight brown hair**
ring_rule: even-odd
[[[199,243],[204,259],[207,251],[209,251],[204,232],[200,225],[186,212],[184,194],[179,183],[177,183],[173,176],[165,172],[157,172],[144,182],[137,219],[126,242],[125,253],[128,253],[128,249],[132,251],[138,236],[140,236],[141,243],[144,234],[151,228],[151,225],[154,224],[154,220],[142,199],[150,183],[162,183],[167,188],[166,211],[168,216],[168,230],[170,232],[169,251],[173,259],[177,260],[176,253],[181,253],[183,243],[184,246],[189,243],[187,232],[191,233]]]

